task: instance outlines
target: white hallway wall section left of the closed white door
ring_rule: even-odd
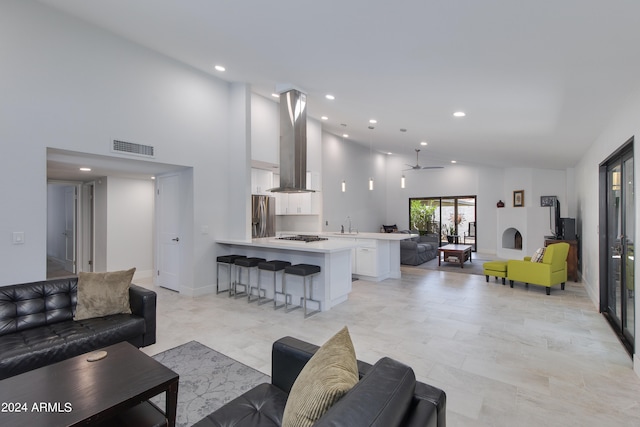
[[[108,177],[107,268],[136,267],[136,278],[153,271],[154,182]]]

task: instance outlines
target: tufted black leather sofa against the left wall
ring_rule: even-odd
[[[0,287],[0,379],[128,341],[156,342],[156,293],[129,287],[132,314],[73,320],[77,278]]]

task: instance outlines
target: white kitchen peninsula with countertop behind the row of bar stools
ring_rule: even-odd
[[[351,292],[351,251],[355,247],[349,239],[328,239],[316,242],[280,240],[275,237],[264,237],[251,240],[219,239],[220,254],[238,254],[248,257],[265,258],[267,261],[282,260],[291,264],[312,264],[320,266],[320,274],[313,278],[313,298],[320,301],[322,311],[327,311],[347,300]],[[224,269],[220,269],[221,274]],[[279,279],[278,275],[278,279]],[[273,284],[268,274],[260,274],[262,288],[266,297],[273,298]],[[220,277],[225,283],[228,276]],[[243,281],[246,281],[243,276]],[[251,275],[252,285],[257,282],[257,275]],[[280,283],[278,283],[280,289]],[[287,277],[287,293],[291,301],[298,304],[302,296],[302,279],[296,276]]]

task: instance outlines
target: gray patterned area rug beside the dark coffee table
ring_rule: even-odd
[[[191,341],[152,356],[180,375],[176,425],[191,426],[258,384],[268,375]],[[164,394],[152,399],[164,409]]]

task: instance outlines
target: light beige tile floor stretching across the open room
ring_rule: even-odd
[[[447,393],[447,425],[639,426],[640,378],[580,283],[566,290],[416,268],[353,282],[349,300],[303,319],[226,293],[158,292],[155,354],[197,340],[270,374],[271,344],[318,345],[347,325],[359,359],[390,356]]]

